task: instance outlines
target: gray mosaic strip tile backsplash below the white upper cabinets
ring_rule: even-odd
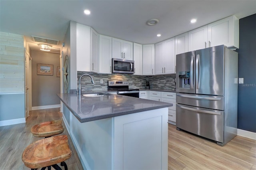
[[[133,74],[98,74],[85,71],[77,72],[77,87],[79,86],[79,78],[83,74],[90,74],[94,80],[94,85],[91,83],[91,79],[88,76],[84,76],[81,80],[81,86],[83,91],[99,91],[108,89],[108,81],[129,81],[130,89],[146,89],[146,81],[150,83],[150,89],[168,89],[175,91],[176,75],[133,75]],[[100,79],[103,80],[103,84],[100,83]]]

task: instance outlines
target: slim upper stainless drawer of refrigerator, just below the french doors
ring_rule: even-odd
[[[215,110],[224,110],[224,96],[177,93],[176,103]]]

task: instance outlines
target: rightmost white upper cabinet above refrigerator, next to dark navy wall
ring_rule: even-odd
[[[239,48],[239,20],[230,16],[208,24],[208,47],[226,45],[229,48]]]

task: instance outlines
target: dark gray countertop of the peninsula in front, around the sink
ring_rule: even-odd
[[[70,93],[57,95],[81,123],[172,106],[172,103],[114,94],[101,97]]]

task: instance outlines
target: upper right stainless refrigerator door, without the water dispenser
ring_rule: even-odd
[[[196,94],[224,95],[224,45],[196,51]]]

